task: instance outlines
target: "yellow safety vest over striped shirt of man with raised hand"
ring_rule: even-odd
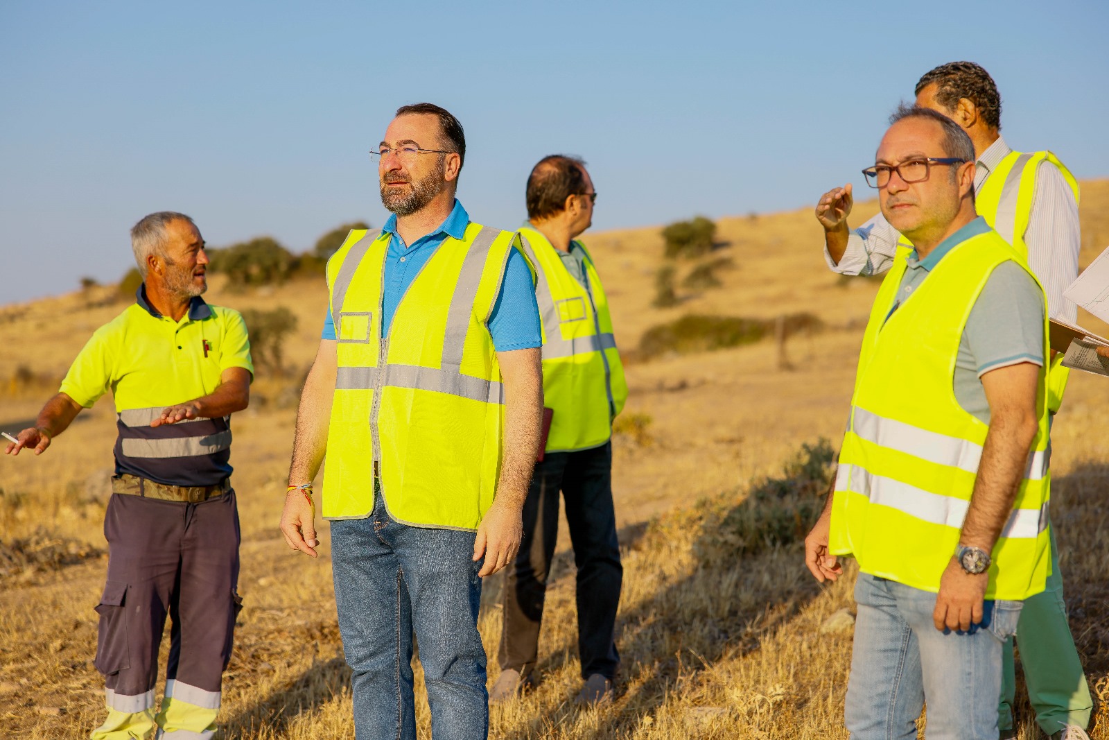
[[[998,162],[986,182],[975,194],[975,206],[978,215],[986,220],[1001,239],[1014,246],[1025,260],[1028,259],[1028,245],[1025,244],[1025,231],[1032,211],[1032,196],[1036,193],[1036,174],[1040,162],[1050,162],[1059,168],[1064,179],[1075,193],[1075,202],[1079,200],[1078,181],[1070,174],[1059,159],[1051,152],[1009,152]],[[1062,404],[1062,394],[1067,389],[1067,378],[1070,368],[1062,366],[1062,355],[1056,355],[1048,371],[1048,408],[1054,414]]]

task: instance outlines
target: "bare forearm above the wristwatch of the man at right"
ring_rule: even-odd
[[[994,548],[1013,510],[1036,430],[1036,419],[1027,415],[990,419],[960,545],[987,553]]]

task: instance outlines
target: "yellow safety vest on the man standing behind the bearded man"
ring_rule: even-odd
[[[535,229],[520,230],[525,254],[538,273],[536,301],[543,324],[543,404],[553,409],[547,452],[603,445],[628,399],[623,364],[612,334],[609,302],[593,259],[586,253],[587,288]]]

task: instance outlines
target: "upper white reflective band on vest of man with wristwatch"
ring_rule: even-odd
[[[852,430],[867,442],[936,465],[949,465],[967,473],[978,473],[981,445],[969,439],[928,432],[912,424],[872,414],[858,406],[853,408],[852,418]],[[1048,459],[1048,450],[1029,453],[1024,477],[1029,480],[1042,479],[1047,475]]]

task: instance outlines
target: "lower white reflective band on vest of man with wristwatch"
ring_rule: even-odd
[[[849,464],[840,465],[835,489],[859,494],[866,496],[871,504],[888,506],[922,521],[956,529],[963,526],[970,507],[968,500],[933,494]],[[1039,509],[1014,509],[1001,530],[1001,537],[1035,539],[1047,529],[1047,504]]]

